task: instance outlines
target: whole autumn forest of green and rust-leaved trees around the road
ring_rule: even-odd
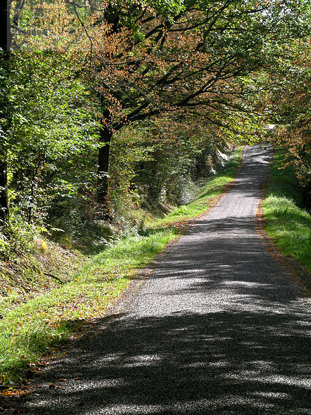
[[[310,9],[308,0],[3,3],[3,293],[25,272],[58,284],[60,257],[108,252],[152,218],[186,212],[246,144],[281,151],[309,210]],[[54,259],[38,258],[49,250]]]

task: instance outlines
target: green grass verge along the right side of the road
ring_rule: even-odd
[[[302,207],[303,189],[290,168],[282,166],[281,151],[276,151],[272,177],[263,202],[265,230],[284,255],[290,256],[310,271],[311,217]]]

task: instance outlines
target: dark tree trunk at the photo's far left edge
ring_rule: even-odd
[[[12,43],[12,35],[10,30],[10,1],[3,1],[0,4],[0,64],[7,70],[10,58],[10,48]],[[4,91],[0,102],[0,116],[6,117],[7,97],[6,84],[0,85]],[[0,222],[8,219],[8,180],[7,180],[7,163],[6,163],[6,147],[4,140],[6,131],[4,129],[3,136],[0,138]]]

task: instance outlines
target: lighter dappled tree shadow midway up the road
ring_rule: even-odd
[[[265,248],[256,234],[254,221],[228,217],[198,221],[189,232],[187,243],[176,245],[169,257],[162,258],[150,279],[187,280],[187,286],[171,284],[163,296],[182,294],[219,295],[226,291],[259,301],[267,306],[288,304],[297,296],[297,287],[283,266]],[[251,303],[252,304],[252,303]]]

